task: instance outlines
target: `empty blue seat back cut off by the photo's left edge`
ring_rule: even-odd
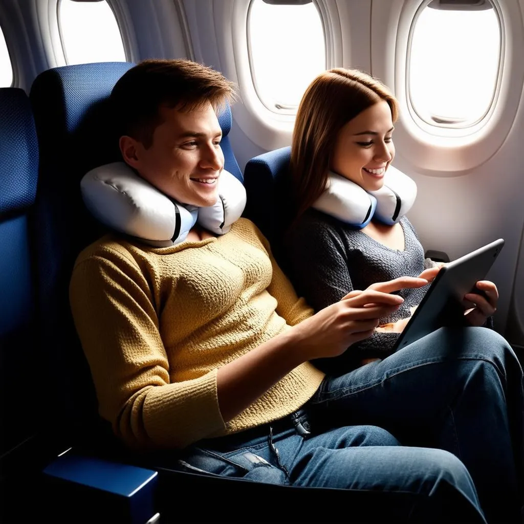
[[[38,146],[26,93],[0,89],[0,456],[39,429],[30,392],[40,372],[34,250],[28,216],[35,202]]]

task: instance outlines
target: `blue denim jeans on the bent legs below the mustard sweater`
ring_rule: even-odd
[[[386,509],[366,508],[369,520],[385,511],[390,521],[514,522],[523,406],[522,370],[503,337],[443,328],[383,361],[326,377],[304,406],[310,434],[277,421],[196,443],[183,464],[257,482],[388,495]]]

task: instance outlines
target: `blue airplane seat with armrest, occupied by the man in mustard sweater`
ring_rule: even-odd
[[[48,353],[52,358],[54,377],[48,383],[53,379],[56,381],[57,402],[61,402],[59,416],[52,424],[58,427],[56,438],[63,443],[62,449],[65,451],[72,446],[72,450],[44,470],[45,475],[52,479],[46,497],[51,501],[60,500],[57,506],[63,506],[67,501],[67,510],[62,511],[61,516],[55,514],[54,521],[68,521],[71,511],[75,511],[77,521],[82,516],[93,518],[93,512],[99,511],[103,504],[100,500],[104,498],[100,497],[104,490],[111,492],[108,496],[118,499],[114,506],[121,508],[121,494],[112,492],[113,482],[111,486],[107,485],[107,471],[112,478],[119,477],[116,465],[127,464],[138,467],[141,476],[137,475],[137,478],[147,476],[144,471],[159,473],[155,504],[160,507],[162,522],[214,521],[232,490],[238,498],[235,515],[228,514],[228,521],[272,520],[275,514],[268,513],[271,508],[253,514],[253,500],[260,496],[272,500],[292,497],[293,504],[288,504],[287,509],[279,513],[284,520],[292,520],[297,505],[311,499],[309,489],[176,471],[172,467],[176,452],[139,454],[125,450],[113,436],[108,423],[97,416],[89,367],[71,318],[68,289],[78,253],[105,231],[85,209],[80,180],[96,166],[121,160],[117,145],[111,139],[111,113],[107,99],[116,81],[133,65],[112,62],[50,69],[38,75],[29,95],[40,148],[35,213],[40,231],[36,239],[40,253],[39,307],[46,336],[53,342],[52,351]],[[224,134],[221,147],[225,169],[243,181],[227,136],[232,125],[230,107],[227,106],[219,116],[219,122]],[[125,471],[122,475],[129,476]],[[186,499],[193,499],[194,493],[206,493],[206,505],[196,508],[183,503]],[[336,494],[333,496],[337,497]],[[126,504],[124,516],[120,515],[117,520],[135,522],[136,511],[131,511]]]

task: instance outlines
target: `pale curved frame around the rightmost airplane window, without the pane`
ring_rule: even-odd
[[[425,0],[373,0],[372,74],[395,93],[400,119],[395,124],[397,158],[433,177],[456,177],[483,165],[504,145],[514,124],[524,85],[524,26],[519,0],[492,0],[501,27],[501,60],[495,103],[481,122],[463,129],[423,126],[409,111],[406,95],[408,37],[413,17]],[[445,132],[445,133],[444,133]],[[401,151],[409,156],[401,159]]]

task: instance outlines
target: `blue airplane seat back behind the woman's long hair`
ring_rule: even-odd
[[[268,239],[279,266],[286,274],[283,242],[291,221],[289,161],[291,147],[281,147],[250,159],[244,168],[247,202],[243,216],[254,222]]]

